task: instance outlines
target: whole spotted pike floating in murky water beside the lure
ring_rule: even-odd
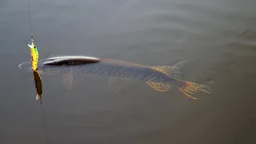
[[[26,62],[19,65],[22,70],[29,67]],[[176,87],[192,99],[200,99],[198,94],[211,94],[212,91],[209,86],[182,80],[182,70],[173,65],[143,66],[110,58],[61,56],[39,60],[37,70],[40,74],[62,74],[63,84],[68,89],[72,88],[73,74],[86,74],[108,78],[110,89],[114,92],[122,89],[122,83],[119,81],[121,78],[146,82],[158,91],[168,91],[171,87]]]

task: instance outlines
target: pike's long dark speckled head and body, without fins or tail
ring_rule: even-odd
[[[128,78],[150,82],[170,82],[174,80],[174,78],[149,66],[106,58],[58,57],[44,62],[42,66],[38,67],[38,70],[42,70],[42,74],[86,74],[89,76]]]

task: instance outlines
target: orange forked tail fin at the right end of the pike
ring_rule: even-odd
[[[208,86],[194,83],[194,82],[182,82],[182,86],[179,88],[179,90],[182,91],[183,94],[186,94],[187,97],[193,98],[193,99],[200,99],[196,97],[197,94],[202,94],[202,93],[211,93],[211,89]]]

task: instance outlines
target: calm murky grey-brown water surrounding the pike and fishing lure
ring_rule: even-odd
[[[255,143],[254,1],[34,1],[39,57],[88,55],[144,65],[181,58],[185,79],[211,86],[194,101],[137,83],[115,94],[106,79],[42,76],[51,143]],[[30,60],[26,0],[0,2],[0,142],[46,143]]]

